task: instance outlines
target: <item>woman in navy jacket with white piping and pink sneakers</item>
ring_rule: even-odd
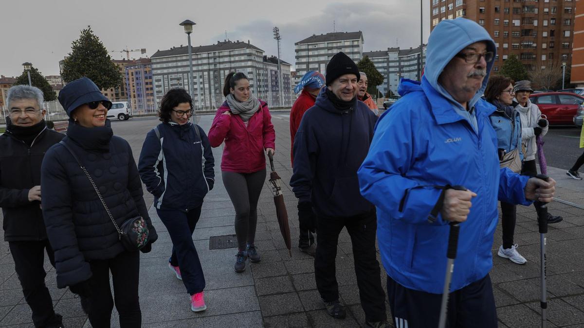
[[[205,277],[192,235],[203,198],[213,189],[214,159],[207,135],[189,122],[193,101],[185,89],[171,89],[160,104],[162,121],[146,135],[138,170],[172,240],[168,267],[182,280],[191,310],[207,309]]]

